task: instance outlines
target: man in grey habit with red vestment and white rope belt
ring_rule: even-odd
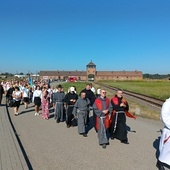
[[[95,129],[98,132],[99,145],[103,149],[109,144],[109,105],[110,100],[106,97],[106,91],[101,89],[99,97],[95,99],[93,109],[96,115]]]

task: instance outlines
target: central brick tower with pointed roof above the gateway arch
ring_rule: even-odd
[[[86,71],[87,71],[87,80],[94,81],[96,75],[96,65],[92,61],[86,65]]]

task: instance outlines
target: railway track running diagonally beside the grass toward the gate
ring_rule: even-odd
[[[117,91],[118,88],[117,87],[113,87],[107,84],[103,84],[103,83],[95,83],[97,85],[103,86],[108,88],[109,90],[113,90],[113,91]],[[131,92],[131,91],[127,91],[127,90],[123,90],[123,93],[127,96],[133,97],[135,99],[141,100],[145,103],[147,103],[148,105],[153,105],[153,106],[157,106],[159,108],[162,107],[162,104],[164,102],[164,100],[160,100],[151,96],[147,96],[147,95],[143,95],[143,94],[139,94],[139,93],[135,93],[135,92]]]

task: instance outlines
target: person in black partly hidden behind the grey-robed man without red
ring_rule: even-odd
[[[84,92],[86,93],[86,98],[88,98],[90,100],[90,104],[89,104],[89,111],[87,113],[87,118],[86,118],[86,125],[89,125],[90,122],[90,118],[89,118],[89,113],[90,113],[90,109],[92,110],[92,106],[94,104],[94,101],[96,99],[94,93],[91,91],[91,86],[90,84],[86,84],[85,89],[83,89],[80,94]],[[94,113],[93,113],[94,114]]]

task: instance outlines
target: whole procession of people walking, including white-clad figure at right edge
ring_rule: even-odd
[[[61,84],[50,87],[46,82],[38,81],[35,81],[32,87],[26,81],[8,83],[5,90],[4,84],[1,83],[0,90],[0,99],[6,95],[7,106],[14,108],[15,116],[20,114],[19,107],[22,103],[27,109],[32,102],[35,116],[41,114],[43,119],[48,120],[49,110],[52,108],[56,123],[65,122],[67,128],[77,126],[78,134],[83,137],[87,137],[89,124],[93,124],[98,144],[103,149],[109,145],[109,139],[129,144],[126,127],[126,117],[130,114],[129,104],[123,96],[122,89],[118,89],[111,99],[106,96],[105,89],[96,90],[92,83],[87,83],[79,95],[75,86],[64,91]],[[133,115],[130,117],[135,118]],[[170,167],[170,99],[167,99],[162,106],[161,118],[165,128],[160,140],[157,167],[159,170],[164,170],[164,167]]]

